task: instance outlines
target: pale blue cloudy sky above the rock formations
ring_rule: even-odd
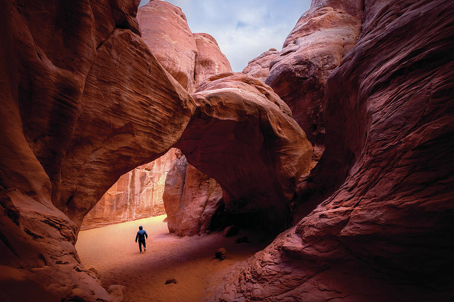
[[[283,41],[311,0],[167,0],[183,10],[194,33],[212,35],[234,71]],[[142,0],[140,5],[147,4]]]

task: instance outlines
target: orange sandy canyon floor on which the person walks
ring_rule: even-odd
[[[179,238],[168,233],[164,218],[161,215],[81,231],[76,249],[82,263],[97,269],[103,286],[125,285],[128,302],[190,302],[202,296],[210,275],[266,246],[259,233],[245,230],[230,238],[221,232]],[[148,234],[143,254],[135,242],[139,225]],[[235,244],[242,236],[252,242]],[[221,247],[228,255],[223,261],[214,258]],[[175,278],[177,284],[164,284],[169,278]]]

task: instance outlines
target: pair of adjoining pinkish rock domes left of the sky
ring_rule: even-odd
[[[210,75],[232,71],[216,40],[208,34],[193,34],[179,7],[151,0],[139,8],[137,20],[150,50],[188,92]]]

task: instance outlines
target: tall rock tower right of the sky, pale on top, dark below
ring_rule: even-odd
[[[322,152],[323,98],[331,71],[355,45],[361,29],[357,1],[313,1],[279,54],[269,63],[265,83],[289,105],[309,141]]]

